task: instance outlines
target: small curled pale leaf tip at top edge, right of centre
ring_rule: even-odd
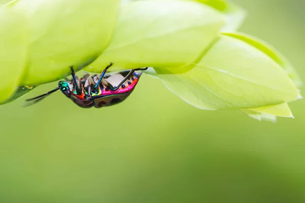
[[[245,20],[247,12],[241,7],[233,4],[231,1],[226,0],[191,0],[197,1],[202,4],[211,6],[212,8],[220,11],[225,15],[226,24],[222,28],[223,31],[237,30],[243,20]]]

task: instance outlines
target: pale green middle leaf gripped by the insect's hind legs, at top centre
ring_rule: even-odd
[[[138,1],[122,7],[107,49],[85,71],[185,66],[196,60],[224,24],[216,10],[191,1]]]

